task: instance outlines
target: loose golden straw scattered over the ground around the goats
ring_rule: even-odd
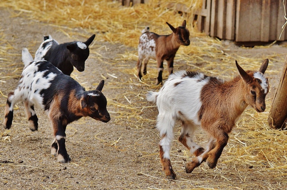
[[[285,188],[287,174],[287,133],[286,131],[279,131],[269,127],[267,117],[272,103],[273,93],[278,84],[278,76],[281,74],[280,65],[283,64],[286,53],[274,53],[269,51],[268,48],[273,47],[274,44],[265,47],[254,47],[252,49],[239,48],[232,44],[219,41],[218,39],[210,38],[203,33],[198,33],[196,27],[192,27],[192,23],[190,23],[189,20],[192,17],[193,9],[201,6],[201,1],[180,1],[191,9],[191,12],[188,13],[185,18],[179,14],[175,14],[173,10],[166,9],[165,7],[169,2],[170,1],[165,0],[151,1],[149,4],[121,7],[117,1],[4,0],[0,2],[0,7],[8,7],[15,10],[12,17],[25,17],[31,22],[40,21],[47,26],[56,27],[57,30],[65,36],[73,39],[81,36],[89,37],[90,34],[96,33],[95,41],[102,42],[102,44],[94,43],[91,45],[89,59],[98,61],[100,66],[105,65],[107,67],[107,69],[102,70],[101,73],[96,74],[99,75],[101,79],[108,80],[108,83],[106,83],[104,87],[104,94],[108,97],[108,110],[112,115],[113,125],[115,125],[115,127],[121,126],[125,129],[147,131],[147,133],[149,133],[148,131],[152,131],[151,134],[157,137],[157,131],[153,128],[156,123],[157,109],[155,105],[146,103],[145,100],[145,94],[148,90],[156,91],[160,88],[160,86],[154,85],[157,76],[156,62],[150,60],[148,64],[148,74],[144,76],[144,80],[141,82],[137,81],[135,76],[136,70],[134,68],[137,61],[136,48],[138,38],[144,27],[150,26],[151,31],[158,34],[168,34],[170,33],[170,29],[165,24],[166,21],[174,27],[177,27],[181,25],[183,19],[187,19],[187,27],[191,33],[191,44],[187,47],[180,47],[175,57],[174,71],[188,69],[229,80],[238,73],[234,64],[235,60],[246,70],[257,70],[262,61],[265,58],[269,58],[266,75],[271,78],[271,80],[269,80],[271,88],[266,99],[266,111],[257,113],[250,107],[245,110],[238,123],[236,123],[233,132],[230,134],[230,140],[224,148],[224,152],[219,159],[216,169],[210,170],[203,163],[198,170],[193,171],[192,178],[186,175],[183,167],[184,163],[191,160],[191,155],[189,155],[185,147],[174,141],[171,156],[172,165],[178,176],[177,180],[170,182],[165,179],[164,173],[162,172],[159,174],[159,172],[155,171],[148,172],[141,170],[137,171],[136,175],[141,177],[141,179],[150,180],[154,185],[145,186],[143,184],[148,184],[148,182],[142,182],[143,184],[141,184],[137,181],[136,177],[130,177],[127,180],[130,186],[127,188],[119,187],[119,189],[161,189],[162,187],[164,187],[162,189]],[[15,60],[14,57],[19,57],[19,61],[21,55],[14,53],[13,46],[5,39],[4,32],[5,30],[0,29],[0,108],[2,110],[5,107],[5,98],[8,94],[8,91],[2,93],[2,91],[6,91],[7,89],[6,86],[4,89],[4,85],[10,84],[11,79],[20,77],[22,72],[22,65],[13,62],[13,60]],[[39,42],[31,40],[30,43],[30,48],[33,52],[37,49]],[[117,48],[111,48],[112,46]],[[280,48],[280,46],[276,47]],[[104,55],[104,52],[109,51],[109,49],[117,49],[117,51],[110,54],[110,56],[113,55],[113,57]],[[90,76],[85,75],[85,72],[88,73],[86,70],[83,73],[73,72],[72,77],[82,83],[87,89],[92,89],[97,83],[90,83]],[[92,75],[95,73],[92,72],[89,74]],[[167,77],[168,72],[165,69],[163,80]],[[271,81],[273,83],[271,83]],[[15,87],[16,84],[12,83],[11,85]],[[11,87],[11,89],[13,89],[13,87]],[[17,107],[15,109],[17,109]],[[1,111],[1,113],[3,113],[3,111]],[[19,120],[15,122],[24,126],[26,125],[24,118],[23,113],[23,115],[19,117]],[[85,122],[86,120],[80,119],[77,125]],[[176,133],[175,138],[178,137],[180,129],[180,126],[176,125],[174,129]],[[13,141],[13,135],[10,133],[12,133],[12,131],[5,130],[2,130],[0,133],[2,141],[4,142],[3,144]],[[79,131],[77,131],[75,127],[68,126],[67,133],[67,136],[71,137],[75,133],[79,133]],[[105,147],[124,147],[124,134],[120,134],[119,132],[110,140],[106,140],[106,136],[101,135],[102,132],[96,133],[93,140],[103,143]],[[205,145],[206,139],[204,139],[203,132],[198,132],[196,137],[199,144]],[[143,139],[145,138],[146,137]],[[141,142],[138,146],[146,146],[151,143],[149,139],[145,140],[147,141],[146,143]],[[149,164],[147,162],[150,162],[150,159],[145,159],[152,157],[154,158],[152,159],[154,165],[150,167],[155,168],[155,170],[160,170],[157,140],[158,138],[155,142],[151,143],[150,147],[152,151],[150,151],[148,147],[146,147],[146,150],[141,149],[139,152],[142,158],[136,161],[146,166]],[[123,144],[121,144],[121,142]],[[176,144],[177,149],[175,149],[174,144]],[[131,145],[127,145],[127,147],[127,149],[137,151],[136,148]],[[123,157],[124,154],[125,151],[122,150],[121,156]],[[85,162],[85,160],[83,160],[83,162]],[[135,161],[133,160],[131,162]],[[7,164],[9,165],[9,163],[1,162],[3,167],[7,166]],[[13,167],[17,169],[17,166]],[[205,177],[201,179],[198,176]],[[209,177],[209,179],[207,179],[207,177]],[[216,179],[216,181],[213,179]],[[260,181],[260,179],[262,179],[262,181]],[[234,182],[234,180],[236,182]],[[93,184],[95,185],[97,182],[94,181]],[[50,186],[49,188],[53,189],[52,187],[53,186]],[[81,189],[83,187],[84,186],[77,185],[73,187],[69,185],[65,186],[66,189]],[[54,186],[54,188],[60,189],[61,187]],[[113,188],[110,187],[110,189]]]

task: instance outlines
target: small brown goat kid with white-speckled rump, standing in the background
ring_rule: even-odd
[[[168,22],[166,24],[172,30],[170,35],[158,35],[153,32],[149,32],[149,28],[142,31],[142,35],[139,37],[138,55],[137,60],[137,77],[141,79],[141,64],[144,61],[144,75],[146,74],[146,66],[150,58],[157,61],[158,64],[158,77],[156,84],[162,82],[163,61],[167,61],[169,74],[173,71],[173,59],[180,45],[188,46],[189,31],[185,27],[186,21],[184,20],[182,25],[174,28]]]

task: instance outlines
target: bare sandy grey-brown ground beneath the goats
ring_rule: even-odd
[[[4,95],[15,89],[23,68],[21,51],[27,47],[34,56],[44,35],[51,34],[60,43],[67,41],[86,41],[82,36],[67,37],[65,28],[52,27],[37,21],[27,21],[22,17],[11,17],[8,9],[0,9],[0,29],[4,39],[13,46],[9,50],[10,59],[14,65],[0,70],[0,77],[6,83],[0,82],[0,90]],[[76,30],[76,29],[75,29]],[[80,30],[80,29],[77,29]],[[91,34],[82,30],[86,36]],[[232,42],[225,41],[224,48],[228,53],[241,52],[245,57],[268,57],[268,55],[286,55],[286,47],[274,45],[263,49],[243,49]],[[101,123],[91,118],[82,118],[67,127],[66,148],[71,157],[70,163],[57,163],[57,158],[50,155],[50,145],[53,140],[48,117],[42,111],[36,110],[39,118],[39,129],[30,131],[27,127],[23,103],[18,103],[19,109],[14,110],[13,124],[10,130],[3,127],[4,106],[6,98],[0,95],[0,125],[2,133],[0,143],[0,189],[284,189],[285,181],[277,181],[268,176],[267,172],[258,174],[261,168],[246,168],[239,165],[234,171],[233,163],[222,163],[228,147],[224,149],[216,169],[209,169],[206,163],[186,174],[183,159],[186,148],[177,142],[179,133],[175,134],[172,145],[172,164],[177,173],[176,180],[167,180],[161,170],[158,157],[158,131],[155,129],[157,116],[156,107],[146,108],[141,117],[150,119],[144,125],[131,125],[117,119],[118,111],[131,111],[117,108],[112,102],[127,90],[147,92],[148,86],[131,85],[126,81],[136,83],[134,75],[122,72],[132,69],[135,61],[121,61],[118,53],[134,52],[135,48],[122,44],[112,44],[96,41],[90,46],[90,57],[86,61],[84,72],[74,70],[72,77],[76,78],[86,88],[94,89],[104,75],[104,95],[109,99],[108,111],[111,121]],[[102,57],[99,57],[100,53]],[[280,58],[284,59],[285,56]],[[263,59],[262,59],[263,61]],[[273,61],[267,70],[271,85],[268,98],[278,85],[282,62]],[[113,63],[113,64],[110,64]],[[11,63],[12,64],[12,63]],[[116,66],[115,66],[116,65]],[[18,68],[18,69],[16,69]],[[184,66],[180,69],[187,69]],[[114,74],[118,78],[109,77]],[[267,72],[268,73],[268,72]],[[279,73],[279,74],[278,74]],[[153,81],[152,81],[153,82]],[[139,83],[140,84],[140,83]],[[153,106],[146,102],[144,95],[128,96],[138,107]],[[122,97],[122,104],[128,104]],[[265,122],[267,123],[267,121]],[[177,126],[175,131],[180,131]],[[234,133],[238,130],[234,129]],[[198,133],[198,139],[204,140],[204,133]],[[191,157],[191,155],[189,155]],[[232,175],[228,173],[233,172]],[[286,173],[281,173],[286,176]],[[280,175],[280,173],[278,173]],[[286,178],[285,178],[286,179]],[[228,188],[226,188],[228,187]]]

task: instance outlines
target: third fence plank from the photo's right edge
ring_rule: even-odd
[[[260,41],[269,41],[271,0],[262,1]]]

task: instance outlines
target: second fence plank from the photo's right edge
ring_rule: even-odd
[[[282,26],[277,27],[279,3],[281,3],[281,2],[278,0],[271,0],[271,3],[270,3],[269,40],[271,40],[271,41],[277,40],[277,29],[279,29],[279,28],[281,29],[281,27],[282,27]]]

